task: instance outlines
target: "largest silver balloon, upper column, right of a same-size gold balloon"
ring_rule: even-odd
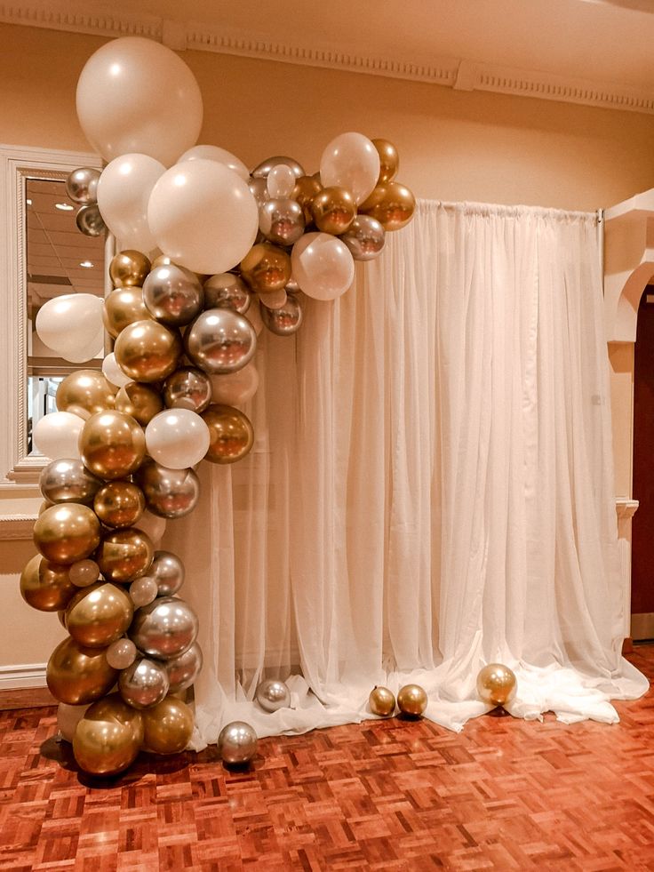
[[[231,308],[210,308],[195,318],[184,336],[187,357],[209,375],[236,372],[257,349],[257,333]]]

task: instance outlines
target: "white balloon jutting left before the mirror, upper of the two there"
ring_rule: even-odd
[[[64,360],[81,364],[100,354],[104,344],[101,297],[65,293],[47,300],[36,314],[36,332]]]

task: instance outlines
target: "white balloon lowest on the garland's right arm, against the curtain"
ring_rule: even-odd
[[[291,252],[291,271],[308,297],[334,300],[355,280],[355,260],[331,233],[306,233]]]

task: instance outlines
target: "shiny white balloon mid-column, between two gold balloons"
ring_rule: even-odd
[[[210,441],[209,428],[190,409],[164,409],[146,428],[148,454],[169,469],[195,466],[209,450]]]

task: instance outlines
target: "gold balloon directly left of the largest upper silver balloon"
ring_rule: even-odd
[[[116,361],[134,381],[159,381],[177,369],[182,354],[179,332],[158,321],[135,321],[118,336]]]

